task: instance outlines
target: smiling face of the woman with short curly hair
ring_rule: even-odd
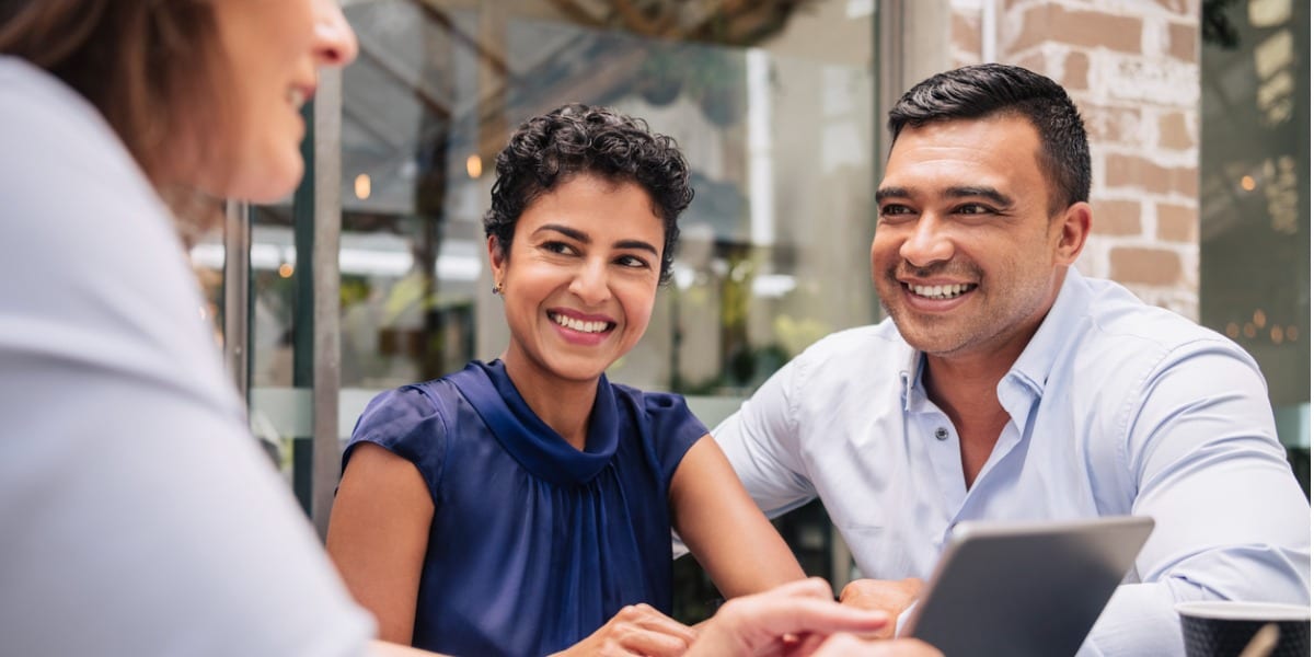
[[[595,382],[639,342],[664,237],[641,187],[579,175],[524,209],[509,254],[489,238],[511,328],[503,357],[518,388]]]

